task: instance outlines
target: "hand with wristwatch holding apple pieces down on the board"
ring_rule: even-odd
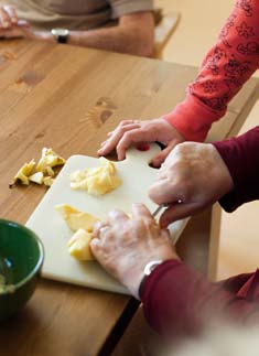
[[[152,260],[179,259],[168,229],[161,229],[143,204],[133,204],[131,217],[112,211],[97,223],[91,252],[112,277],[139,298],[143,270]]]

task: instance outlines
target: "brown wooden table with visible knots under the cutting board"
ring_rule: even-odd
[[[43,147],[65,158],[96,155],[121,119],[170,111],[196,68],[22,40],[0,43],[0,212],[24,224],[46,188],[9,190],[21,164],[39,159]],[[209,139],[236,133],[256,97],[251,80]],[[187,261],[199,246],[194,240],[196,247],[183,242]],[[207,247],[208,235],[202,241]],[[0,325],[0,355],[109,355],[137,308],[129,296],[41,280],[28,305]]]

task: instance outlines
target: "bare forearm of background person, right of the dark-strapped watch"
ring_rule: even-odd
[[[152,35],[144,37],[144,33],[134,25],[72,31],[68,44],[141,56],[151,56],[153,51]]]

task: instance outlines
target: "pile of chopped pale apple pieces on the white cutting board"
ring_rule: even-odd
[[[116,175],[116,166],[112,162],[100,158],[100,166],[87,168],[71,174],[71,187],[73,190],[86,190],[93,195],[106,194],[121,184]]]

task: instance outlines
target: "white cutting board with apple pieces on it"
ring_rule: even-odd
[[[26,222],[26,226],[37,234],[44,246],[43,277],[100,290],[129,293],[96,261],[78,261],[69,256],[66,244],[73,233],[54,207],[57,204],[68,204],[104,220],[107,213],[114,208],[129,213],[132,203],[144,203],[153,212],[157,205],[149,199],[148,187],[154,182],[158,171],[150,168],[149,162],[159,151],[160,148],[155,143],[151,144],[148,151],[129,149],[125,161],[115,162],[122,184],[102,196],[91,196],[85,191],[73,191],[69,186],[72,172],[99,166],[99,160],[87,155],[73,155],[67,160],[54,184]],[[174,241],[186,223],[187,219],[184,219],[171,225]]]

